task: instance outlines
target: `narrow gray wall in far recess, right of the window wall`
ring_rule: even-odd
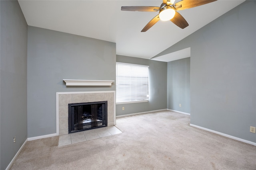
[[[190,113],[190,57],[167,64],[167,108]]]

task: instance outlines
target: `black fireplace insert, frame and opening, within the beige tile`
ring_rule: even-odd
[[[108,102],[68,104],[68,133],[108,125]]]

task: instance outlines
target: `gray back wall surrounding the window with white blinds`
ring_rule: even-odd
[[[167,63],[116,55],[116,62],[149,66],[149,101],[132,104],[117,104],[116,115],[140,113],[167,108]],[[125,109],[122,110],[122,107]]]

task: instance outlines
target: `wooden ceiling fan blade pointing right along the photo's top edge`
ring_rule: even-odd
[[[177,2],[174,6],[175,6],[175,9],[178,11],[178,10],[185,10],[188,8],[193,8],[196,6],[208,4],[214,1],[217,1],[217,0],[182,0],[180,2]]]

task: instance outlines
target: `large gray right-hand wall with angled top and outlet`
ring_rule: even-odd
[[[159,55],[191,47],[191,123],[256,142],[256,1],[246,1]]]

